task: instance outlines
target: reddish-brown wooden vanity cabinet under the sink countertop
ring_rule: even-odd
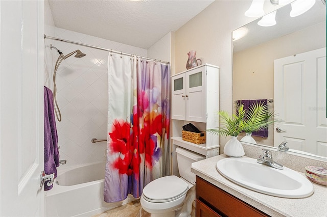
[[[196,216],[269,216],[196,176]]]

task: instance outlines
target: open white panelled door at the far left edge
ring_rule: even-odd
[[[44,216],[43,1],[0,12],[0,216]]]

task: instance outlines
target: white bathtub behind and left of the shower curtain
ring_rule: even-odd
[[[46,191],[45,214],[49,216],[92,216],[135,200],[131,195],[115,203],[103,201],[105,161],[58,168],[53,188]]]

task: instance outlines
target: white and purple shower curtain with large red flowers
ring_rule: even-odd
[[[104,201],[169,175],[170,65],[110,53]]]

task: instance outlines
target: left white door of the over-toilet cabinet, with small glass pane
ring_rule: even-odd
[[[185,120],[185,73],[172,77],[172,119]]]

